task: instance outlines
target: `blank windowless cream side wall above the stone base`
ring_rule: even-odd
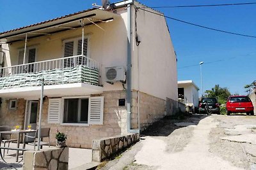
[[[133,42],[132,46],[132,89],[177,101],[177,62],[166,20],[143,10],[139,10],[137,16],[137,33],[141,43],[136,46]],[[135,25],[132,26],[134,41],[136,32]]]

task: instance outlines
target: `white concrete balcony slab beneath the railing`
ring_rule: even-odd
[[[62,96],[85,96],[90,94],[100,94],[103,92],[103,87],[90,85],[86,83],[70,83],[63,85],[45,85],[44,96],[47,97],[62,97]],[[0,90],[0,97],[4,98],[24,98],[24,99],[39,99],[41,87],[19,87],[12,89]]]

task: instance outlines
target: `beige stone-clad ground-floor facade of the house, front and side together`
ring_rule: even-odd
[[[92,148],[93,139],[109,138],[127,134],[127,108],[118,106],[118,99],[126,99],[126,91],[108,91],[92,96],[104,96],[104,120],[103,125],[65,125],[48,124],[49,98],[45,97],[42,113],[42,127],[51,127],[50,143],[56,144],[56,130],[67,134],[67,146],[75,148]],[[60,96],[61,97],[61,96]],[[3,100],[4,101],[4,100]],[[38,101],[38,104],[40,102]],[[24,113],[26,101],[18,100],[17,110],[8,111],[8,100],[1,105],[1,125],[24,125]],[[140,107],[138,107],[140,105]],[[39,110],[39,106],[38,106]],[[138,112],[140,111],[140,130],[143,131],[153,122],[164,117],[166,113],[166,101],[143,92],[132,91],[132,129],[138,129]],[[39,111],[38,111],[39,115]],[[39,118],[39,116],[38,116]],[[3,120],[3,121],[2,121]]]

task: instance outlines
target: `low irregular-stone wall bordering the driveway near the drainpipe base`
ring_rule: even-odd
[[[126,136],[93,140],[92,161],[101,162],[102,160],[108,159],[136,143],[139,139],[139,134],[128,134]]]

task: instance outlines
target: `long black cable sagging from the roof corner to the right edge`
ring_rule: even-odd
[[[220,29],[214,29],[214,28],[211,28],[211,27],[205,27],[203,25],[198,25],[198,24],[193,24],[191,22],[186,22],[184,20],[179,20],[177,18],[172,18],[172,17],[168,17],[166,15],[163,15],[163,14],[159,14],[159,13],[156,13],[156,12],[153,12],[153,11],[148,11],[148,10],[145,10],[143,8],[140,8],[141,10],[143,11],[147,11],[149,13],[154,13],[156,15],[159,15],[159,16],[162,16],[162,17],[166,17],[166,18],[169,18],[169,19],[172,19],[172,20],[176,20],[178,22],[182,22],[182,23],[185,23],[185,24],[189,24],[189,25],[194,25],[196,27],[202,27],[204,29],[209,29],[209,30],[212,30],[212,31],[218,31],[218,32],[223,32],[223,33],[227,33],[227,34],[233,34],[233,35],[237,35],[237,36],[245,36],[245,37],[250,37],[250,38],[256,38],[256,36],[250,36],[250,35],[246,35],[246,34],[239,34],[239,33],[236,33],[236,32],[229,32],[229,31],[223,31],[223,30],[220,30]]]

